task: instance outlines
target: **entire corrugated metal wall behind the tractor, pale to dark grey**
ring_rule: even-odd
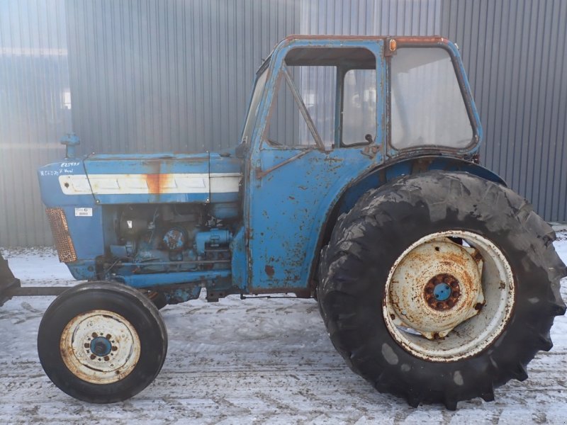
[[[82,153],[235,145],[254,71],[289,33],[456,41],[483,163],[567,220],[566,22],[561,0],[0,1],[0,246],[50,243],[35,169],[62,156],[71,113]]]

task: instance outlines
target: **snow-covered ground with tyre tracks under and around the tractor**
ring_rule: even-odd
[[[567,233],[556,248],[567,261]],[[71,285],[52,249],[4,251],[26,285]],[[7,254],[7,255],[6,255]],[[562,281],[567,300],[567,278]],[[52,297],[0,307],[0,423],[195,424],[566,424],[567,317],[551,329],[554,348],[530,363],[529,379],[496,401],[412,409],[354,375],[332,347],[314,300],[203,299],[168,306],[169,351],[155,382],[126,402],[68,397],[44,375],[37,329]]]

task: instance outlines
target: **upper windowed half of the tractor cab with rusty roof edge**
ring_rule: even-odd
[[[458,50],[440,37],[291,35],[257,72],[242,132],[263,150],[354,149],[380,163],[472,157],[480,141]]]

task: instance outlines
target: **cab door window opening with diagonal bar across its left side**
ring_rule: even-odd
[[[328,150],[376,137],[376,57],[369,50],[293,49],[277,84],[264,148]]]

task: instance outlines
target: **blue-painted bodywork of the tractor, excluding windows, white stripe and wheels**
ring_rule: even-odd
[[[362,48],[374,55],[374,140],[359,146],[341,145],[343,77],[351,65],[342,64],[337,67],[333,88],[336,101],[332,148],[285,147],[265,142],[264,132],[271,104],[283,81],[286,55],[298,47],[313,48],[313,57],[322,48]],[[468,171],[503,183],[491,171],[465,160],[478,152],[482,140],[478,112],[456,46],[439,41],[434,47],[443,47],[451,54],[461,91],[468,99],[476,137],[476,144],[470,148],[451,151],[429,146],[398,152],[389,145],[389,59],[383,55],[383,38],[362,37],[294,36],[280,42],[259,70],[258,75],[265,70],[262,78],[266,77],[266,82],[255,103],[257,115],[252,132],[235,149],[218,154],[93,154],[74,159],[72,147],[78,139],[69,137],[65,143],[68,158],[38,171],[45,205],[63,208],[67,217],[79,258],[67,264],[69,270],[77,279],[103,278],[135,288],[162,288],[168,302],[198,297],[201,285],[208,293],[223,294],[218,296],[277,291],[305,295],[314,276],[322,235],[333,225],[327,220],[350,210],[369,189],[427,169]],[[148,188],[150,180],[159,180],[162,174],[200,174],[209,179],[209,187],[210,174],[242,175],[242,181],[238,188],[230,186],[230,191],[64,195],[60,176],[85,174],[145,176]],[[164,205],[174,205],[181,212],[164,211]],[[187,210],[191,205],[198,206],[198,214]],[[125,211],[130,211],[125,209],[127,206],[140,229],[120,234],[118,224]],[[92,216],[79,217],[74,208],[92,208]],[[184,218],[191,214],[197,217]],[[439,288],[439,296],[444,296],[442,290]]]

